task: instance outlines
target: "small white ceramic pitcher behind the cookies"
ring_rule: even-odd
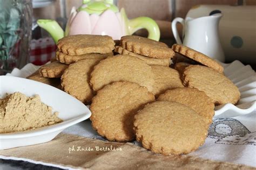
[[[175,18],[172,22],[173,36],[178,44],[188,46],[220,62],[225,62],[219,38],[219,21],[222,16],[221,13],[217,13],[200,18]],[[181,42],[177,31],[177,22],[183,25],[183,42]]]

